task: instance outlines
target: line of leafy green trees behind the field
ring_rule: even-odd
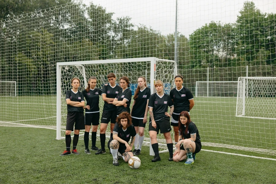
[[[93,2],[0,0],[0,7],[0,80],[16,80],[19,94],[55,94],[56,62],[174,60],[173,33],[114,19]],[[178,72],[191,88],[206,81],[207,67],[211,81],[237,81],[246,65],[249,76],[276,76],[275,29],[275,14],[244,2],[235,23],[211,21],[189,38],[177,34]]]

